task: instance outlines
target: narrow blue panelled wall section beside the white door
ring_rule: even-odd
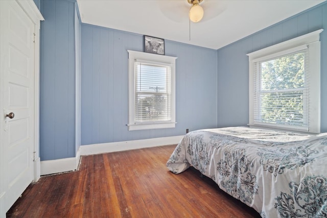
[[[75,157],[75,1],[44,0],[40,32],[40,158]]]

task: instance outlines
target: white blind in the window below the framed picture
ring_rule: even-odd
[[[135,60],[135,124],[171,121],[171,66]]]

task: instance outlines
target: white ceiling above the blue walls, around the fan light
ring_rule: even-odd
[[[219,49],[324,0],[203,0],[191,22],[187,0],[77,0],[83,23]],[[190,38],[191,32],[191,40]]]

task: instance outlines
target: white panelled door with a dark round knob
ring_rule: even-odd
[[[33,181],[35,24],[16,1],[1,4],[1,212]]]

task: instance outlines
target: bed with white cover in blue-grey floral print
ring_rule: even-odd
[[[262,217],[327,217],[327,133],[248,127],[186,134],[167,162],[191,165]]]

